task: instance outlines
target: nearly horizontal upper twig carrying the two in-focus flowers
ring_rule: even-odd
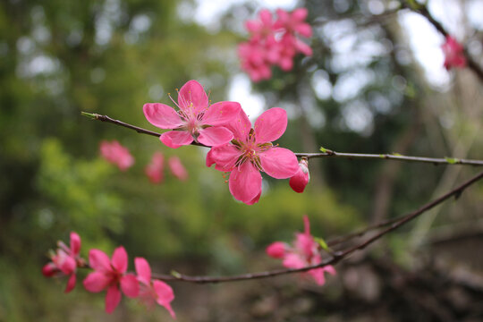
[[[137,131],[141,134],[148,134],[151,136],[159,137],[161,133],[155,131],[149,131],[139,126],[131,125],[129,123],[124,123],[119,120],[114,120],[113,118],[107,115],[95,114],[95,113],[86,113],[80,112],[82,115],[89,117],[92,120],[97,120],[106,123],[113,123],[115,125],[123,126],[125,128]],[[191,145],[199,146],[199,147],[206,147],[205,145],[199,142],[193,142]],[[207,147],[208,148],[208,147]],[[343,153],[343,152],[335,152],[333,150],[329,150],[327,148],[324,149],[326,152],[322,153],[295,153],[297,157],[345,157],[345,158],[370,158],[370,159],[388,159],[388,160],[397,160],[397,161],[406,161],[406,162],[422,162],[422,163],[430,163],[433,165],[483,165],[483,160],[469,160],[469,159],[459,159],[455,157],[445,157],[445,158],[435,158],[435,157],[410,157],[410,156],[401,156],[398,154],[363,154],[363,153]]]

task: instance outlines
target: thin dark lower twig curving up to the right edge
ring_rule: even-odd
[[[242,275],[232,275],[232,276],[191,276],[191,275],[182,275],[178,272],[173,272],[172,275],[153,275],[154,278],[162,279],[165,281],[182,281],[182,282],[189,282],[189,283],[196,283],[196,284],[207,284],[207,283],[224,283],[224,282],[235,282],[235,281],[244,281],[244,280],[253,280],[253,279],[260,279],[260,278],[267,278],[273,277],[278,275],[287,275],[293,273],[301,273],[307,272],[314,268],[326,267],[328,265],[335,265],[343,258],[351,255],[356,250],[363,250],[368,247],[371,243],[376,242],[378,239],[386,235],[386,233],[391,233],[395,229],[405,225],[406,223],[410,222],[412,219],[420,216],[421,214],[425,213],[431,208],[436,207],[446,199],[450,199],[451,197],[459,197],[466,188],[468,188],[471,184],[478,182],[481,178],[483,178],[483,172],[477,174],[467,182],[462,183],[457,188],[454,188],[452,191],[445,193],[443,196],[435,199],[431,202],[428,202],[418,210],[411,212],[406,216],[403,216],[399,220],[395,221],[392,225],[388,228],[384,229],[383,231],[377,233],[376,235],[370,237],[368,240],[364,242],[360,242],[359,244],[349,248],[347,250],[338,251],[333,254],[332,258],[327,258],[322,263],[318,265],[312,265],[309,267],[302,267],[302,268],[287,268],[287,269],[277,269],[272,271],[265,271],[265,272],[258,272],[258,273],[250,273],[250,274],[242,274]]]

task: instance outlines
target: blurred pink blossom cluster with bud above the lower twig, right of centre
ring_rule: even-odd
[[[318,265],[322,262],[320,245],[310,234],[309,217],[303,217],[305,226],[304,233],[295,233],[293,245],[285,242],[273,242],[267,247],[267,255],[272,258],[283,259],[283,265],[287,268],[302,268]],[[335,268],[331,265],[310,269],[307,274],[311,275],[319,285],[326,283],[325,273],[335,275]]]

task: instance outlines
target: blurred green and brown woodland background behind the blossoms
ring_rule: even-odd
[[[264,108],[287,110],[289,127],[278,143],[297,152],[317,152],[323,146],[343,152],[483,158],[478,148],[483,143],[479,81],[468,70],[446,73],[438,84],[428,81],[411,54],[394,2],[287,4],[309,8],[315,55],[297,56],[292,72],[275,68],[272,80],[258,84],[250,84],[240,71],[236,45],[247,38],[243,21],[255,18],[266,4],[219,4],[224,10],[203,22],[199,8],[207,3],[0,3],[0,320],[170,319],[164,309],[147,311],[125,299],[107,316],[104,293],[82,289],[84,271],[68,295],[63,293],[64,279],[44,278],[40,270],[47,263],[47,250],[57,240],[68,242],[71,231],[80,234],[84,257],[89,248],[110,254],[123,245],[131,269],[132,258],[142,256],[159,273],[237,274],[279,267],[264,249],[270,242],[292,241],[293,232],[302,230],[304,214],[313,234],[328,240],[400,216],[476,172],[456,166],[318,159],[310,162],[311,182],[303,194],[293,192],[287,180],[265,176],[259,203],[246,206],[231,197],[223,174],[205,166],[207,150],[169,149],[156,138],[80,115],[107,114],[157,131],[145,120],[142,105],[170,104],[167,93],[175,93],[187,80],[199,80],[213,102],[233,99],[240,84],[249,84],[250,95]],[[472,30],[467,38],[470,54],[481,57],[481,25],[466,23]],[[101,140],[119,140],[130,148],[135,165],[122,173],[107,164],[99,157]],[[159,185],[148,182],[144,167],[155,151],[180,157],[190,179],[179,182],[165,174]],[[434,254],[437,233],[448,226],[450,235],[481,226],[475,223],[480,223],[482,192],[479,184],[456,204],[439,209],[439,216],[433,213],[434,221],[388,236],[376,248],[377,256],[384,254],[404,269],[420,267],[417,256]],[[454,263],[452,254],[448,256]],[[464,263],[481,269],[480,263]],[[342,268],[334,279],[338,284],[327,292],[331,301],[343,303],[341,290],[351,289]],[[276,286],[270,283],[173,283],[174,310],[180,321],[311,321],[337,314],[320,309],[317,294],[323,288],[299,289],[296,277],[278,278]],[[303,309],[302,302],[302,309],[296,306],[275,318],[275,310],[284,311],[284,301],[277,298],[267,306],[261,295],[267,290],[282,294],[277,296],[284,301],[311,296],[312,306]],[[360,312],[364,309],[354,314]]]

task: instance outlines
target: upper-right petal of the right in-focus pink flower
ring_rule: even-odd
[[[287,112],[283,108],[273,107],[258,116],[255,122],[255,141],[266,143],[277,140],[287,128]]]

